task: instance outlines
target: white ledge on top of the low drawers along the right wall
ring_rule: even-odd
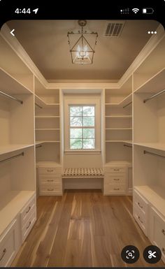
[[[135,189],[165,217],[165,192],[163,187],[145,185],[136,186]]]

